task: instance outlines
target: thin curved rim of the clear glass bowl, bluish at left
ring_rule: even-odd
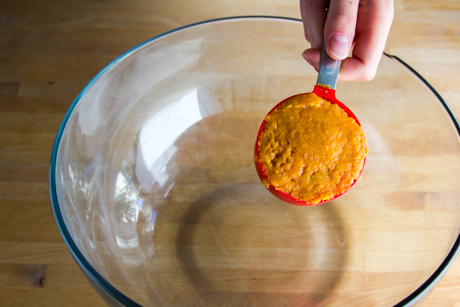
[[[129,49],[128,51],[124,52],[117,58],[115,58],[112,62],[110,62],[106,67],[104,67],[99,73],[97,73],[89,82],[88,84],[85,85],[85,87],[81,90],[81,92],[78,94],[78,96],[75,98],[75,100],[72,102],[71,106],[69,107],[69,110],[66,112],[64,119],[62,120],[62,123],[59,127],[59,130],[57,132],[54,145],[53,145],[53,150],[51,153],[51,160],[50,160],[50,169],[49,169],[49,191],[50,191],[50,199],[51,199],[51,206],[53,209],[53,214],[54,218],[56,220],[56,224],[59,228],[59,232],[61,233],[62,238],[64,239],[65,244],[67,245],[67,248],[69,249],[70,253],[72,254],[72,257],[74,260],[77,262],[78,266],[80,269],[88,276],[90,277],[96,285],[101,287],[106,293],[108,293],[112,298],[117,300],[119,303],[125,305],[125,306],[141,306],[134,300],[130,299],[127,297],[125,294],[120,292],[118,289],[116,289],[112,284],[110,284],[105,278],[100,275],[96,269],[86,260],[86,258],[83,256],[83,254],[79,251],[77,245],[73,241],[69,231],[67,230],[67,227],[65,225],[60,207],[59,207],[59,202],[57,198],[57,190],[56,190],[56,162],[57,162],[57,154],[59,150],[59,145],[61,142],[61,138],[64,132],[64,129],[67,125],[67,122],[69,120],[69,117],[72,115],[76,105],[79,103],[81,98],[84,96],[84,94],[88,91],[88,89],[112,66],[114,66],[116,63],[124,59],[125,57],[129,56],[133,52],[135,52],[137,49],[147,45],[148,43],[155,41],[161,37],[167,36],[169,34],[188,29],[188,28],[193,28],[199,25],[203,24],[212,24],[215,22],[220,22],[220,21],[232,21],[232,20],[248,20],[248,19],[273,19],[273,20],[284,20],[284,21],[293,21],[293,22],[302,22],[301,19],[298,18],[292,18],[292,17],[283,17],[283,16],[270,16],[270,15],[245,15],[245,16],[233,16],[233,17],[223,17],[223,18],[215,18],[215,19],[209,19],[209,20],[204,20],[192,24],[188,24],[185,26],[181,26],[175,29],[172,29],[170,31],[164,32],[162,34],[156,35],[140,44],[137,46]],[[399,62],[402,66],[407,68],[410,72],[412,72],[416,77],[420,79],[426,85],[431,92],[438,98],[439,102],[441,105],[445,108],[447,114],[450,116],[452,122],[455,125],[455,128],[457,129],[457,133],[460,136],[460,125],[459,122],[457,121],[455,115],[453,114],[452,110],[450,107],[447,105],[447,103],[444,101],[444,99],[441,97],[441,95],[433,88],[433,86],[425,79],[423,78],[414,68],[412,68],[409,64],[404,62],[402,59],[395,55],[388,54],[386,52],[383,53],[384,56],[393,59],[397,62]],[[417,302],[420,298],[422,298],[424,295],[429,293],[429,291],[434,287],[434,285],[444,276],[444,274],[447,272],[449,267],[452,265],[454,262],[456,256],[460,253],[460,232],[455,240],[454,244],[452,245],[449,253],[447,254],[446,258],[444,261],[440,264],[440,266],[434,271],[434,273],[421,285],[419,286],[414,292],[412,292],[410,295],[408,295],[405,299],[394,305],[395,307],[401,307],[401,306],[410,306]]]

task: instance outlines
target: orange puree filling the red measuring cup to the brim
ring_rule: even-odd
[[[368,152],[362,127],[313,93],[291,97],[270,113],[258,146],[265,186],[311,204],[347,191]]]

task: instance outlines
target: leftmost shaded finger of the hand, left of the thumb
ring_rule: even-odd
[[[305,38],[312,48],[323,45],[324,22],[329,0],[300,0],[300,15],[304,26]]]

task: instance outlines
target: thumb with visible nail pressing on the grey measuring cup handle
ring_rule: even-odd
[[[324,26],[326,51],[335,60],[350,53],[355,37],[359,0],[332,0]]]

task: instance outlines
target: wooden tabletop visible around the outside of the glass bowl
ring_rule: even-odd
[[[235,15],[299,17],[298,1],[0,1],[0,306],[103,306],[61,238],[48,192],[57,129],[115,57],[170,29]],[[460,2],[397,0],[386,51],[460,117]],[[460,306],[457,259],[423,306]]]

